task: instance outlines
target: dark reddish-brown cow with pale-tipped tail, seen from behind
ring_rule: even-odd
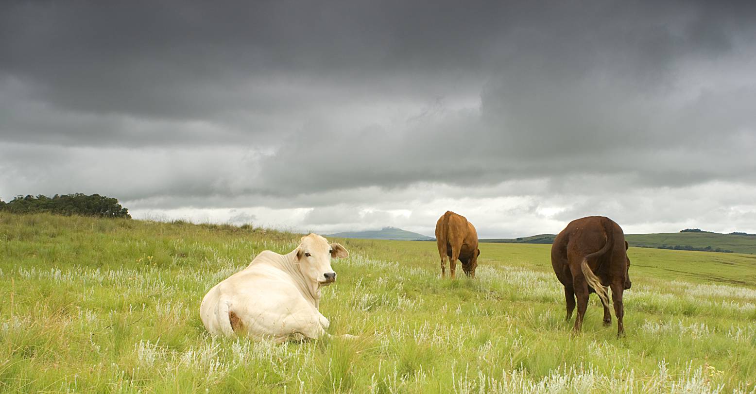
[[[578,317],[575,318],[575,332],[580,331],[588,306],[588,294],[599,295],[604,306],[604,324],[612,324],[609,312],[609,291],[617,315],[617,336],[624,334],[622,317],[622,292],[631,287],[627,258],[627,241],[622,229],[603,216],[588,216],[576,219],[565,227],[554,239],[551,246],[551,265],[556,278],[565,287],[567,320],[575,309],[578,297]]]

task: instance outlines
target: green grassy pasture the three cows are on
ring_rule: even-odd
[[[631,248],[627,337],[570,335],[549,245],[339,240],[321,312],[358,340],[212,339],[213,284],[297,234],[0,213],[0,392],[756,392],[756,259]],[[574,316],[573,316],[574,318]]]

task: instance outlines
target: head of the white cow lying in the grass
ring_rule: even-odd
[[[309,234],[299,240],[296,248],[296,258],[299,259],[299,269],[302,275],[311,281],[327,286],[336,281],[336,272],[330,266],[330,259],[340,259],[349,256],[344,247],[328,241],[318,234]]]

